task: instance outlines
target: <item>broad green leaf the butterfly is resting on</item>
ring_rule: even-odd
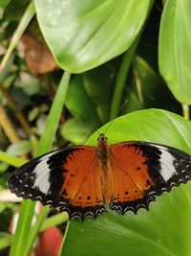
[[[107,125],[99,129],[104,132]],[[151,141],[191,152],[191,122],[164,110],[139,110],[117,118],[107,130],[110,143]],[[96,145],[97,132],[88,144]],[[190,256],[191,183],[173,188],[149,211],[120,216],[108,210],[96,221],[73,220],[61,255]]]

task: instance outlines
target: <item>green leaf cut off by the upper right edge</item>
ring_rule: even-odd
[[[175,98],[191,105],[191,2],[168,0],[159,30],[159,70]]]

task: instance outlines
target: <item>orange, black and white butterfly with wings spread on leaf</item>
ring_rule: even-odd
[[[59,207],[69,218],[95,218],[112,210],[148,210],[149,203],[191,179],[191,155],[159,144],[128,141],[70,146],[49,152],[16,169],[8,187],[17,197]]]

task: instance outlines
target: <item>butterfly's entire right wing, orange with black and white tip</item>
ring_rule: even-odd
[[[111,146],[114,195],[110,206],[124,214],[148,208],[150,201],[191,179],[191,156],[172,147],[147,142]]]

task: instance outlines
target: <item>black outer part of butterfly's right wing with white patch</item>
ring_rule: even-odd
[[[146,156],[145,164],[155,186],[148,196],[159,196],[169,192],[173,187],[191,180],[191,155],[176,148],[154,144],[138,143],[138,147]]]

